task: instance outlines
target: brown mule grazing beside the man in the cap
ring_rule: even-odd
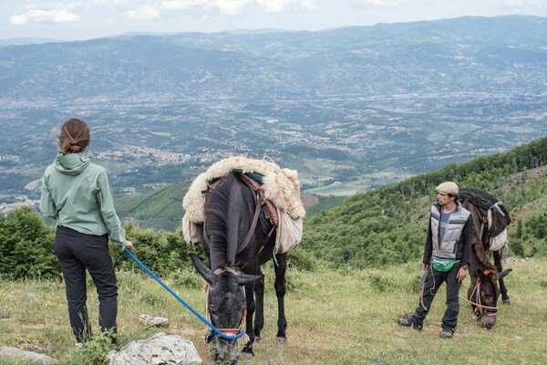
[[[511,304],[503,280],[511,272],[511,269],[503,270],[501,266],[501,249],[490,249],[491,227],[485,216],[484,209],[480,209],[476,199],[473,199],[477,194],[486,197],[490,202],[497,202],[497,199],[490,193],[479,190],[462,190],[459,194],[462,205],[472,214],[473,250],[470,260],[471,286],[468,290],[468,300],[472,303],[471,308],[473,309],[474,318],[480,326],[490,329],[496,324],[500,294],[504,304]],[[503,212],[502,214],[506,214],[506,224],[509,224],[511,222],[509,214],[505,209],[503,209]],[[493,255],[494,264],[490,263],[489,252]]]

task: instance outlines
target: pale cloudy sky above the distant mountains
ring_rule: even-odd
[[[319,30],[515,14],[547,16],[547,0],[0,0],[0,39]]]

